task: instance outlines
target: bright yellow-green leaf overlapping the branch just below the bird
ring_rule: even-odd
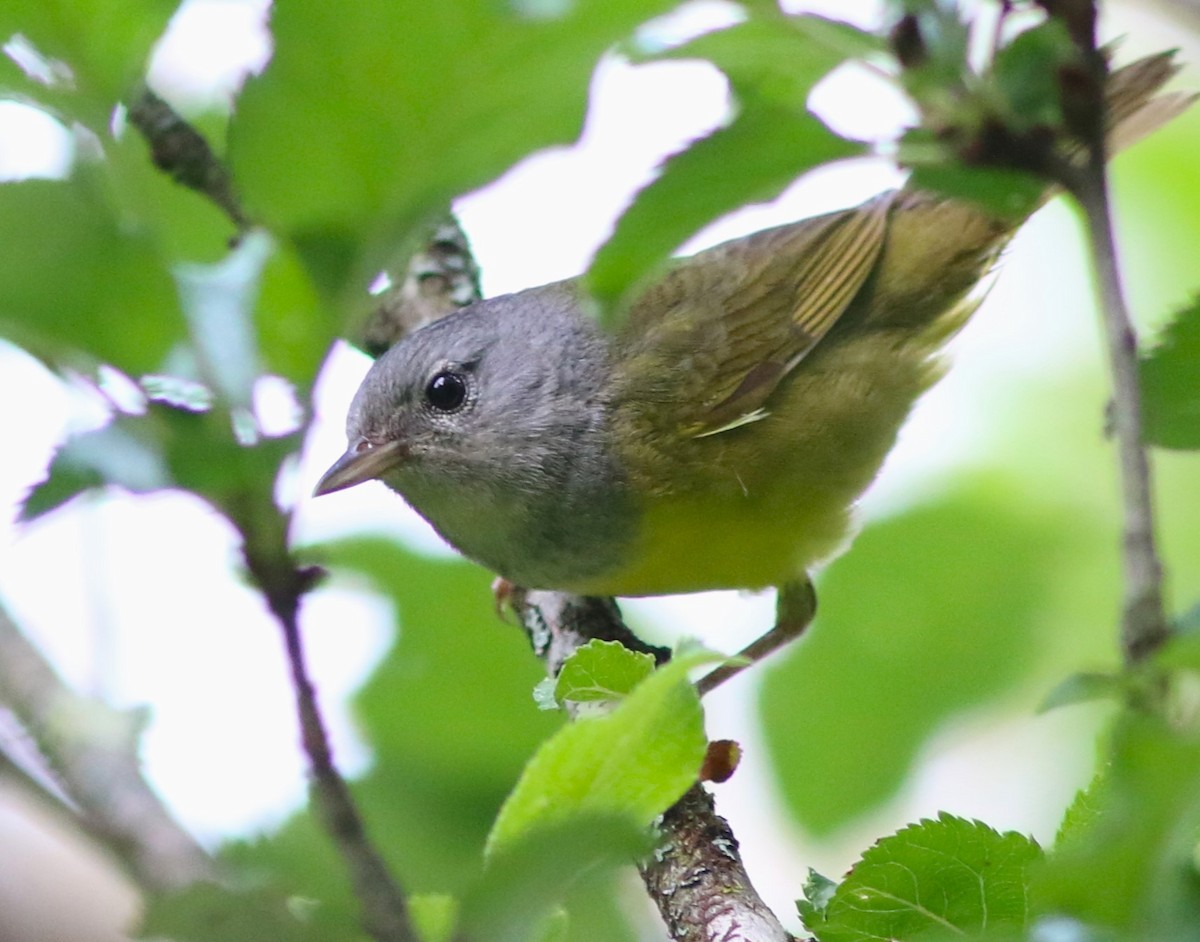
[[[605,716],[559,730],[526,766],[488,836],[494,856],[539,828],[587,815],[646,827],[696,780],[704,757],[700,697],[688,671],[706,653],[660,667]]]

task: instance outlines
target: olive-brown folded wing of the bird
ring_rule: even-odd
[[[875,269],[893,198],[677,263],[638,298],[617,338],[616,407],[643,433],[670,438],[713,436],[766,415],[770,394]]]

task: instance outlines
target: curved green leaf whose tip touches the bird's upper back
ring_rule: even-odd
[[[611,320],[688,236],[746,203],[776,197],[800,174],[860,148],[808,113],[748,102],[733,122],[670,157],[596,252],[588,290]]]

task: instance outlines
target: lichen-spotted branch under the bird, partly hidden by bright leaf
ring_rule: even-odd
[[[668,653],[641,641],[620,620],[612,599],[515,589],[509,602],[534,653],[554,676],[592,638],[619,641],[664,661]],[[762,901],[713,797],[694,785],[659,823],[660,842],[638,870],[676,942],[791,942]]]

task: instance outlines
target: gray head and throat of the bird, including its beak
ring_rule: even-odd
[[[317,493],[370,479],[464,554],[563,588],[617,562],[630,508],[607,438],[605,338],[569,283],[472,305],[371,367]]]

